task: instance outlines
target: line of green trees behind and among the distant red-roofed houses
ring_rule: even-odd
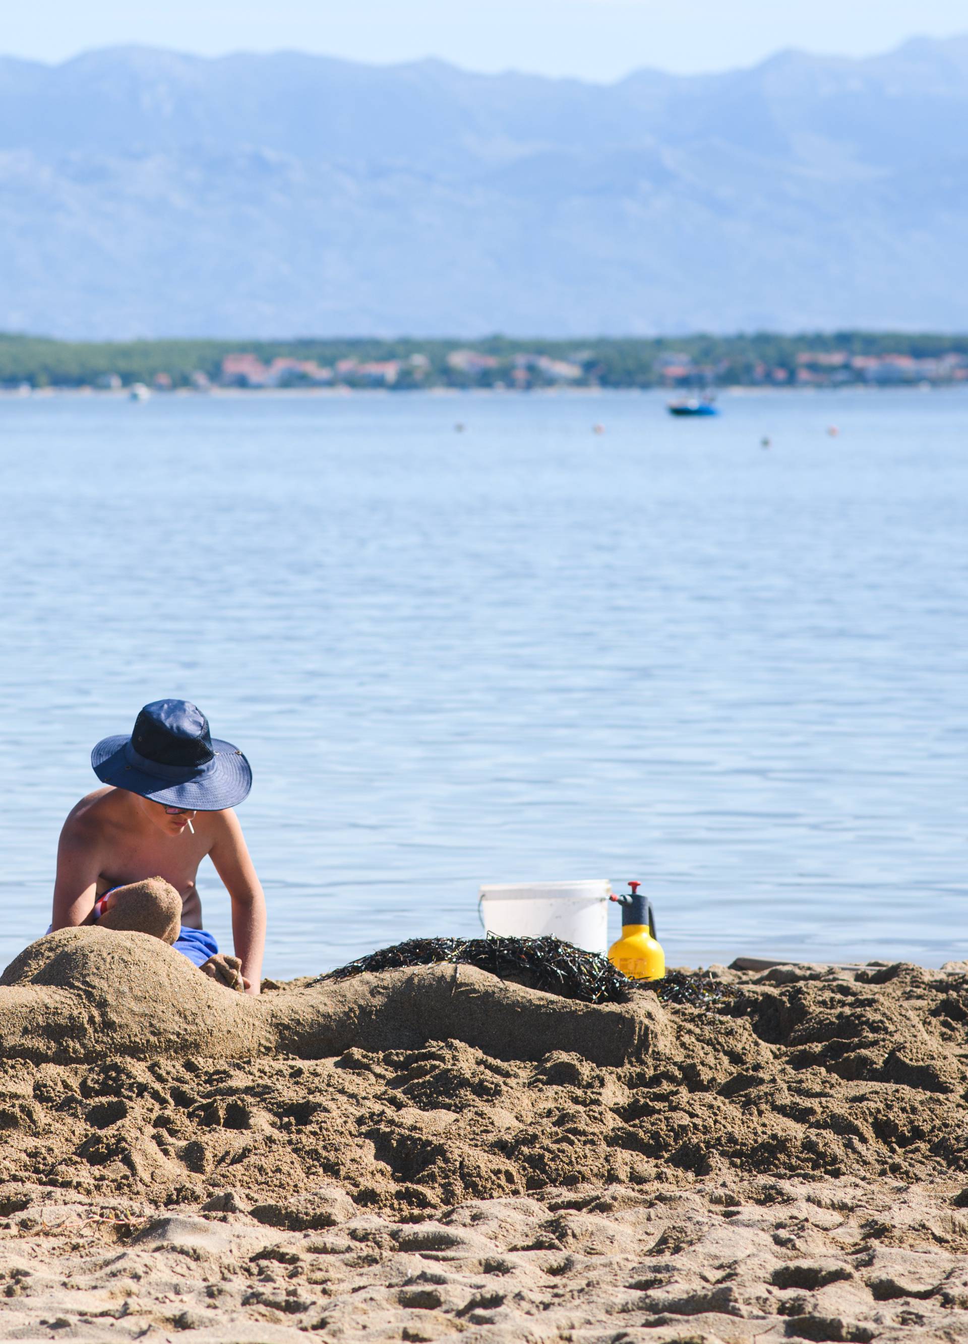
[[[471,376],[448,364],[448,355],[472,348],[495,356],[499,370]],[[602,387],[652,387],[663,383],[664,367],[686,356],[696,378],[721,384],[764,380],[764,368],[787,371],[791,378],[797,356],[805,352],[851,356],[908,355],[934,359],[945,353],[968,356],[968,335],[946,336],[913,332],[815,332],[784,336],[757,332],[735,336],[676,336],[659,339],[596,337],[588,340],[516,340],[489,336],[483,340],[137,340],[63,341],[38,336],[0,335],[0,386],[82,387],[104,384],[112,375],[122,384],[152,383],[167,375],[173,387],[190,386],[196,375],[216,382],[226,355],[251,352],[264,363],[278,356],[316,360],[332,366],[340,359],[401,360],[424,355],[428,366],[418,379],[406,375],[401,386],[467,386],[501,380],[516,356],[543,355],[581,366],[581,382]],[[542,380],[540,371],[531,382]]]

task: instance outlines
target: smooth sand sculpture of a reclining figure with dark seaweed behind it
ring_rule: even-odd
[[[0,977],[0,1058],[35,1063],[186,1054],[319,1059],[351,1046],[418,1047],[446,1023],[449,1036],[496,1058],[570,1050],[621,1064],[649,1048],[660,1021],[645,996],[574,1003],[473,966],[417,966],[251,999],[200,976],[157,938],[101,929],[48,934]]]

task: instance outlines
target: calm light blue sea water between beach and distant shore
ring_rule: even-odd
[[[270,974],[569,878],[679,965],[968,956],[968,395],[723,410],[3,399],[0,960],[165,695],[253,763]]]

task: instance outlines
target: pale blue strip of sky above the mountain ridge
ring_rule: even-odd
[[[781,47],[886,51],[968,31],[968,0],[31,0],[0,50],[62,60],[147,43],[204,55],[296,48],[366,62],[434,55],[471,70],[616,79],[641,66],[723,70]]]

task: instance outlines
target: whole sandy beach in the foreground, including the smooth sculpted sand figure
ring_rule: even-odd
[[[258,1000],[133,933],[0,980],[0,1339],[968,1339],[968,966],[721,1013],[461,966]]]

